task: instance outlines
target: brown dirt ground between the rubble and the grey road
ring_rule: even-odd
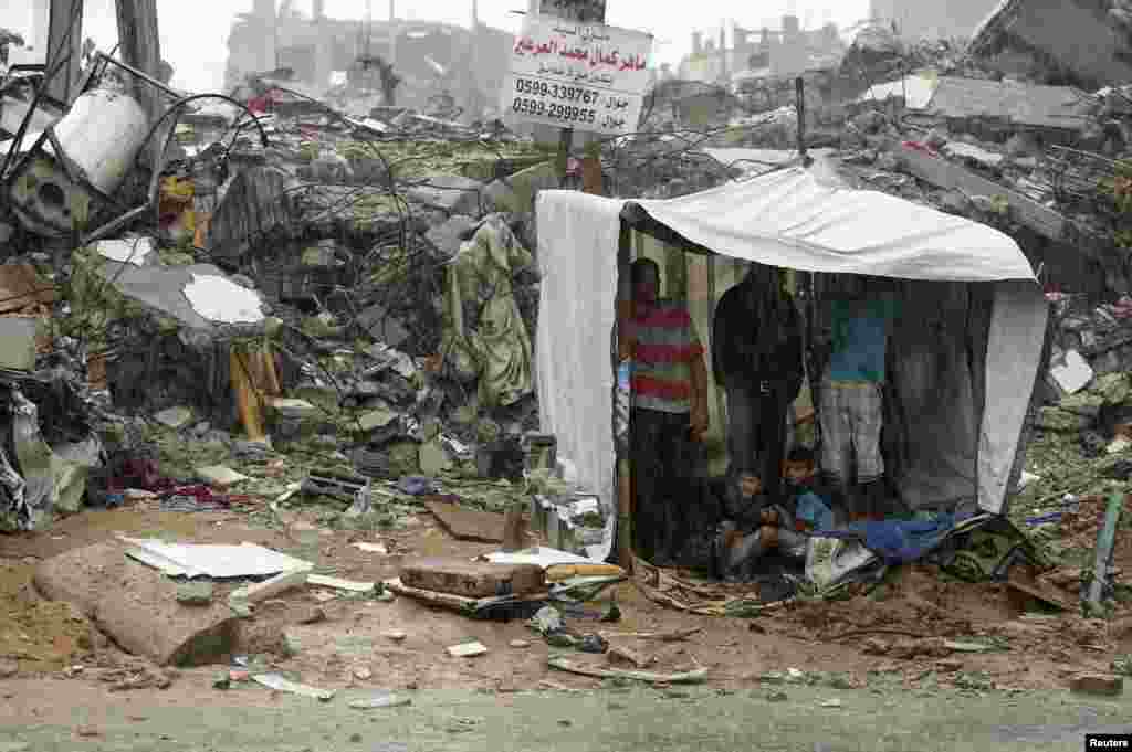
[[[1091,505],[1082,505],[1078,519],[1066,521],[1066,534],[1083,539],[1091,526],[1095,536],[1094,512]],[[117,650],[96,632],[92,638],[89,625],[67,604],[44,603],[36,596],[29,581],[36,561],[114,533],[192,543],[249,541],[294,551],[282,530],[249,521],[246,511],[91,510],[44,533],[0,537],[0,561],[6,562],[0,568],[5,603],[0,606],[0,659],[7,662],[7,674],[66,677],[70,683],[111,681],[121,689],[131,689],[123,676],[144,674],[152,681],[135,682],[138,688],[164,684],[179,694],[215,693],[212,678],[224,667],[157,672]],[[405,529],[388,534],[324,530],[321,538],[320,568],[335,577],[367,581],[395,577],[406,556],[473,557],[497,547],[455,541],[427,512],[411,519]],[[380,555],[351,546],[363,541],[384,543],[391,553]],[[1116,564],[1132,571],[1127,535],[1120,537]],[[1066,586],[1066,596],[1072,587],[1075,582]],[[1064,688],[1072,673],[1107,672],[1116,656],[1132,654],[1132,608],[1126,603],[1109,622],[1070,613],[1023,617],[1026,604],[1012,598],[1005,586],[944,581],[926,567],[904,568],[884,588],[883,597],[874,594],[841,602],[799,603],[755,620],[680,613],[648,600],[632,582],[608,590],[603,598],[616,598],[623,614],[619,623],[567,617],[567,624],[580,632],[603,633],[697,628],[701,631],[678,642],[607,637],[644,657],[652,671],[707,668],[711,684],[721,689],[753,686],[764,673],[787,668],[825,677],[840,675],[846,686],[860,688],[883,678],[908,689],[1054,689]],[[285,629],[294,655],[275,649],[263,659],[316,686],[514,692],[547,681],[566,688],[601,683],[549,668],[550,649],[522,621],[474,621],[403,596],[381,603],[319,593],[317,588],[291,590],[278,600],[282,603],[267,604],[256,621],[275,620]],[[310,614],[316,606],[325,613],[324,621],[298,623],[297,614]],[[405,633],[402,641],[388,637],[397,631]],[[993,649],[955,652],[942,645],[942,638],[979,641]],[[471,639],[482,642],[489,652],[477,658],[453,658],[445,652],[445,648]],[[512,647],[514,640],[529,645]],[[575,658],[607,665],[603,656],[578,652]],[[242,689],[247,691],[229,693],[231,702],[259,705],[273,694],[252,685]]]

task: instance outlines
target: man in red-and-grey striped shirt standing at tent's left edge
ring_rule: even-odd
[[[658,300],[660,267],[632,268],[633,312],[626,327],[632,356],[634,547],[654,564],[674,561],[689,534],[693,442],[707,432],[707,369],[687,308]]]

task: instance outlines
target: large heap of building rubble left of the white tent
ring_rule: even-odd
[[[474,476],[477,446],[538,429],[533,208],[560,183],[552,154],[500,126],[404,107],[348,115],[277,83],[245,94],[243,110],[185,107],[148,216],[120,219],[123,193],[76,235],[3,202],[6,398],[33,424],[38,408],[41,426],[14,432],[50,447],[36,473],[20,441],[18,461],[3,458],[8,529],[77,511],[84,491],[113,496],[111,458],[148,461],[154,431],[233,452],[240,433],[314,443],[395,482]],[[131,138],[126,159],[143,146]],[[11,174],[40,163],[52,168],[38,139],[12,147]],[[148,181],[134,164],[128,178]],[[94,196],[53,180],[65,201]],[[96,470],[89,489],[79,466]]]

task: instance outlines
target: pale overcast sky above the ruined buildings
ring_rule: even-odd
[[[396,14],[408,19],[430,19],[469,25],[472,0],[393,0]],[[941,0],[942,1],[942,0]],[[228,33],[237,14],[251,10],[252,0],[157,0],[162,57],[175,69],[172,84],[189,90],[215,90],[223,84],[228,57]],[[0,0],[15,5],[16,10],[0,14],[0,25],[18,32],[29,32],[31,10],[19,6],[26,0]],[[46,6],[45,0],[43,5]],[[372,0],[375,19],[389,17],[389,0]],[[294,0],[300,11],[310,12],[310,0]],[[521,16],[512,10],[525,10],[526,0],[479,0],[480,20],[515,32]],[[326,15],[334,18],[365,18],[367,0],[326,0]],[[779,26],[782,14],[795,12],[804,28],[816,28],[827,20],[841,27],[863,19],[868,0],[696,0],[694,3],[669,3],[662,0],[608,0],[607,23],[614,26],[650,32],[657,37],[654,62],[679,61],[692,45],[691,35],[701,29],[718,38],[720,25],[731,23],[758,28]],[[42,21],[44,25],[46,20]],[[92,37],[101,49],[110,51],[118,41],[113,0],[86,0],[84,36]],[[730,33],[730,32],[729,32]],[[730,38],[730,37],[729,37]]]

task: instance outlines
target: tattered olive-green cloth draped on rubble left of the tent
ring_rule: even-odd
[[[513,282],[532,262],[503,216],[492,215],[448,267],[443,352],[460,377],[479,378],[481,405],[506,407],[532,391],[531,337]]]

